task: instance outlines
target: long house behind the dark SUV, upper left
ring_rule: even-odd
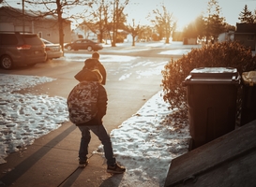
[[[0,31],[17,31],[38,34],[53,43],[59,43],[59,29],[56,16],[39,18],[31,10],[0,7]],[[63,22],[64,43],[71,41],[71,22]]]

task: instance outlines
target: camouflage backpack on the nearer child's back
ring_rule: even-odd
[[[89,122],[97,114],[98,82],[82,81],[68,95],[69,120],[75,124]]]

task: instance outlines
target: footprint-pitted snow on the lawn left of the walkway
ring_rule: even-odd
[[[68,122],[65,98],[15,93],[49,81],[53,79],[0,74],[0,164],[8,153]]]

